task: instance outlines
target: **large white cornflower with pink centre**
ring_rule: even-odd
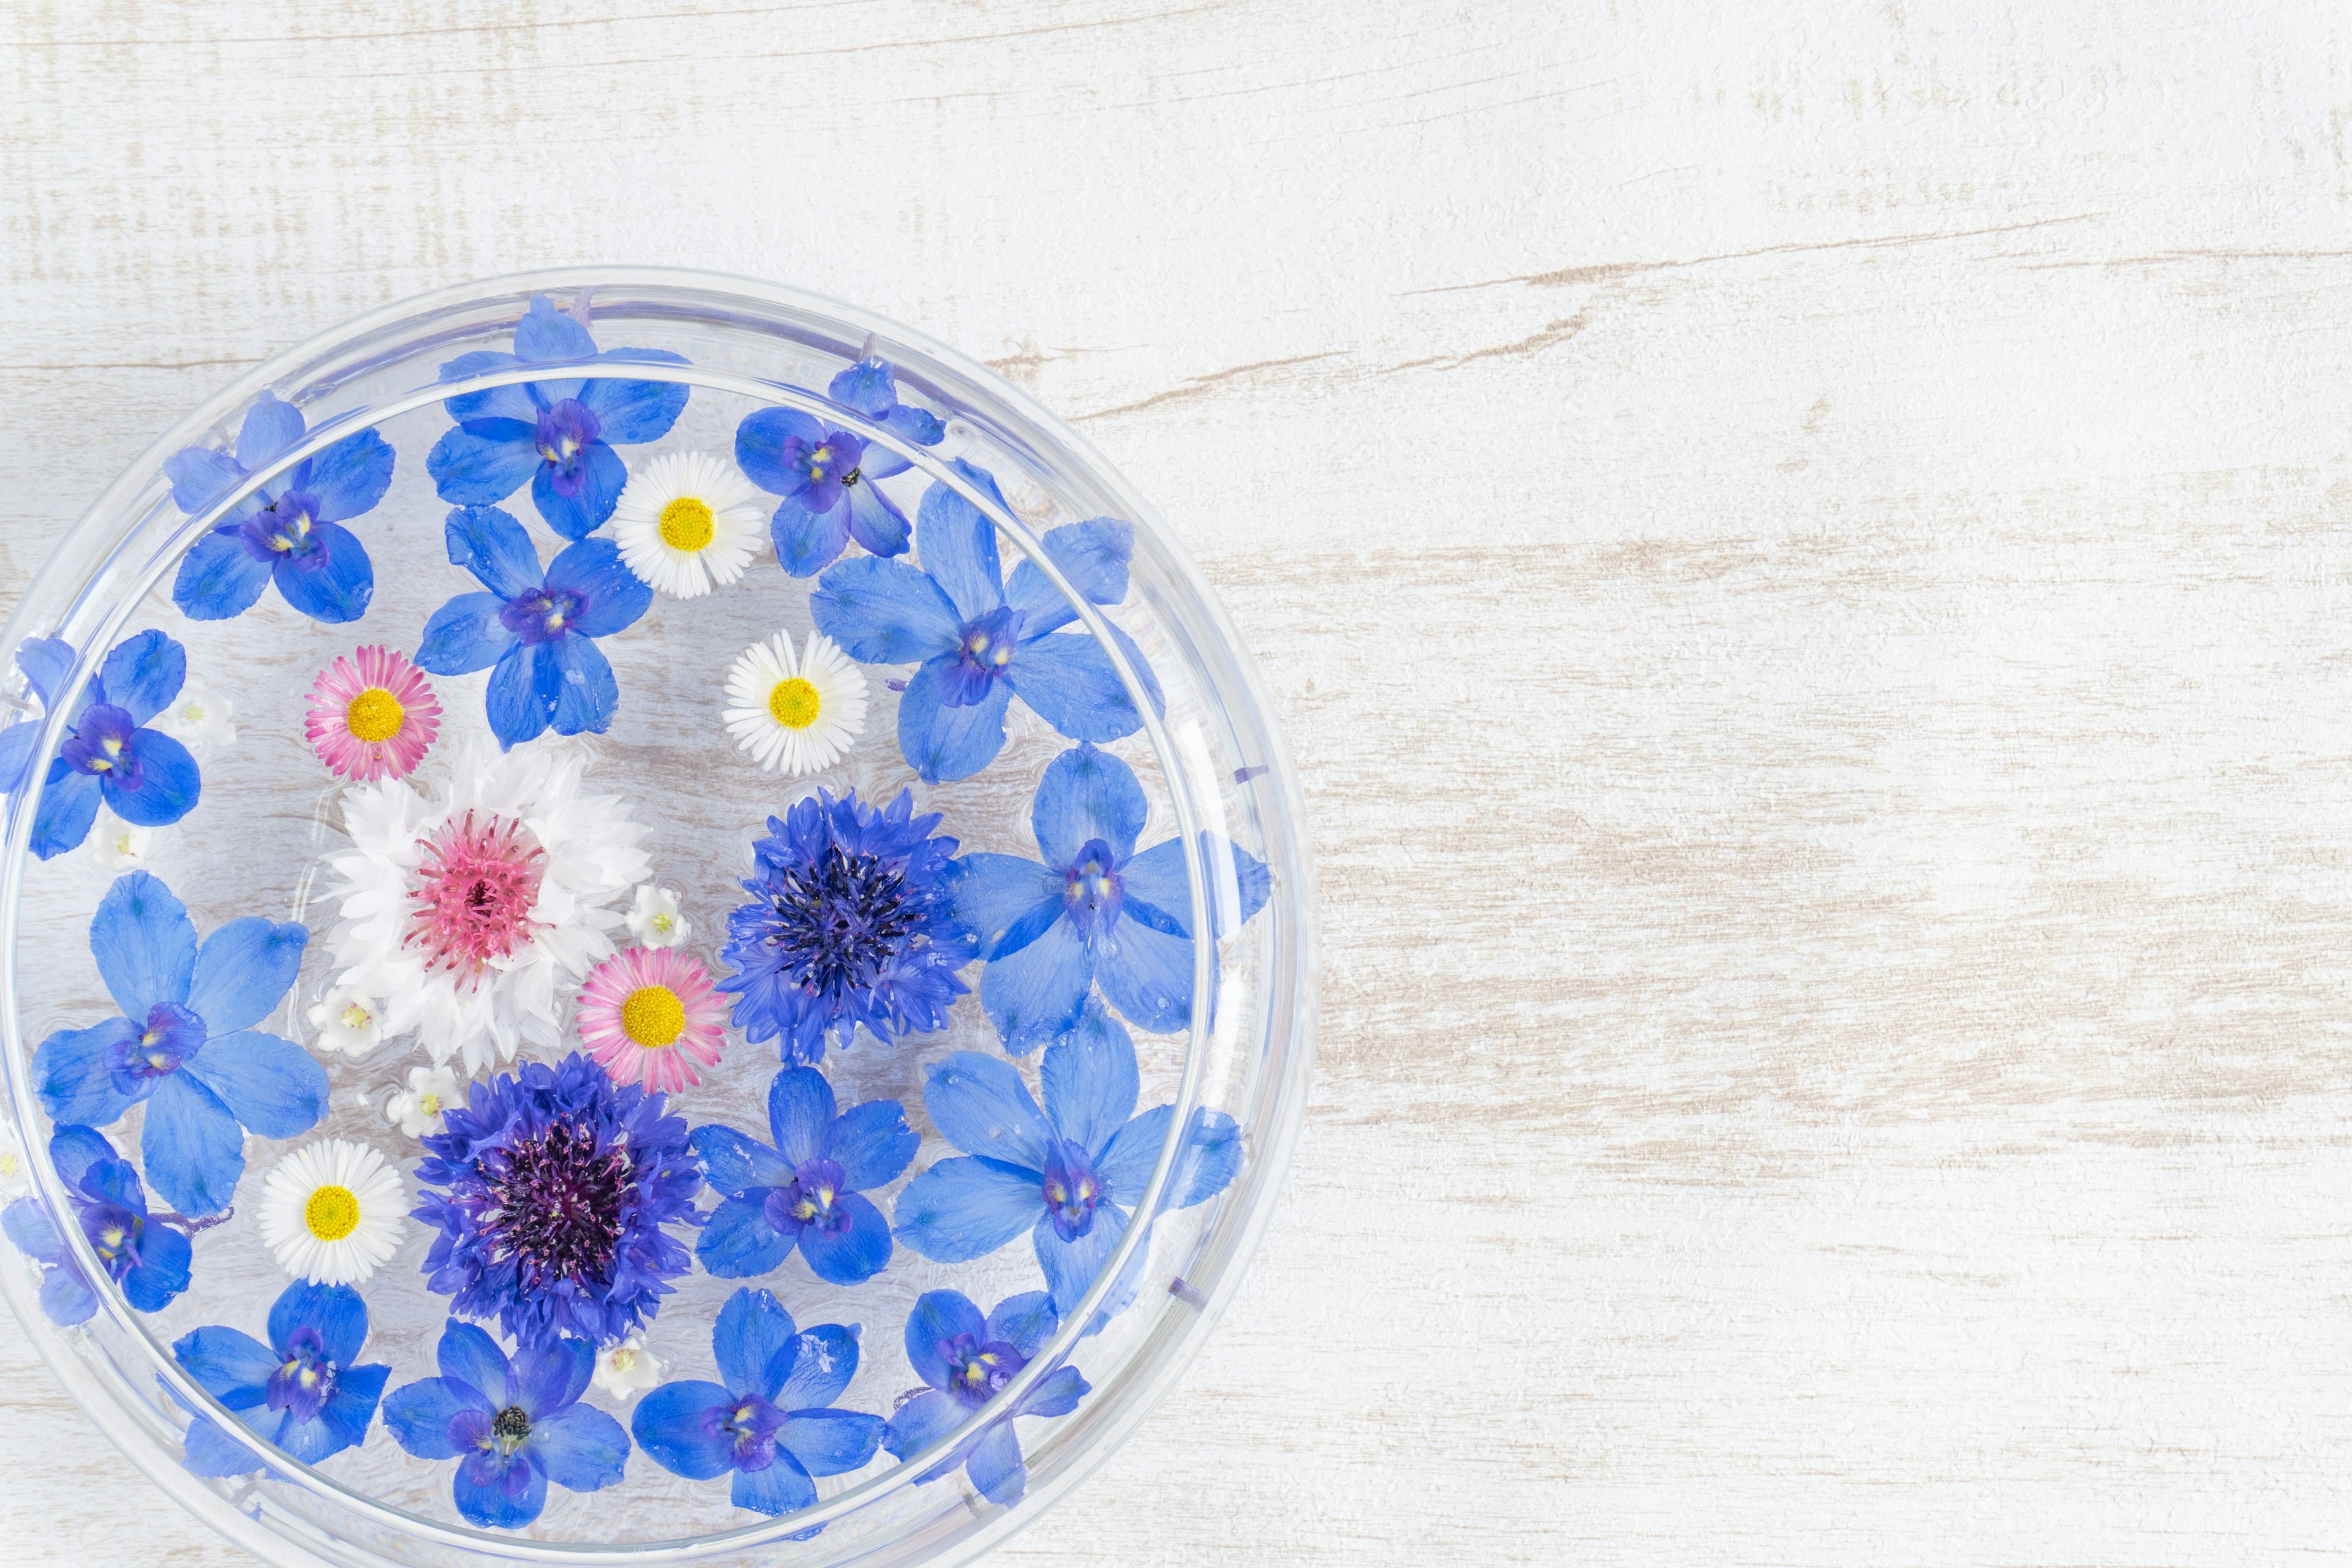
[[[524,1041],[562,1044],[562,1006],[612,957],[612,903],[644,875],[619,795],[581,795],[581,759],[468,750],[423,799],[393,780],[343,797],[350,849],[327,858],[334,985],[383,997],[435,1063],[480,1072]]]

